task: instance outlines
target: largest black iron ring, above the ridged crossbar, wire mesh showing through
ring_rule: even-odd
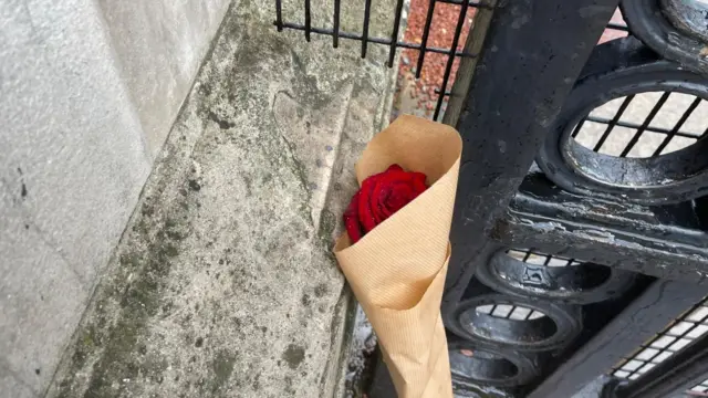
[[[572,130],[594,108],[646,92],[708,98],[708,78],[658,59],[634,38],[597,45],[569,94],[537,156],[559,187],[581,195],[666,205],[708,195],[708,139],[649,158],[596,153],[575,142]]]

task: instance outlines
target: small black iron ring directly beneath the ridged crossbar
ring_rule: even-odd
[[[477,279],[510,295],[590,304],[626,292],[634,283],[633,272],[594,263],[549,266],[513,259],[504,251],[477,268]]]

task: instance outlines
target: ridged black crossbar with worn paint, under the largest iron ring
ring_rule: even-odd
[[[691,202],[645,207],[581,197],[531,174],[492,237],[511,247],[704,283],[708,275],[704,217]]]

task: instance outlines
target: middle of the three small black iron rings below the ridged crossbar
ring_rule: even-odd
[[[481,311],[487,306],[520,307],[542,316],[525,320],[500,317]],[[501,293],[485,293],[462,301],[455,313],[455,322],[456,329],[471,342],[523,352],[564,347],[582,329],[582,316],[577,306],[525,301]]]

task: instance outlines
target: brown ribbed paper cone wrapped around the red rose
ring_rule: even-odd
[[[367,145],[360,185],[398,164],[429,188],[352,245],[334,252],[378,337],[399,398],[452,398],[440,301],[462,143],[451,127],[400,116]]]

